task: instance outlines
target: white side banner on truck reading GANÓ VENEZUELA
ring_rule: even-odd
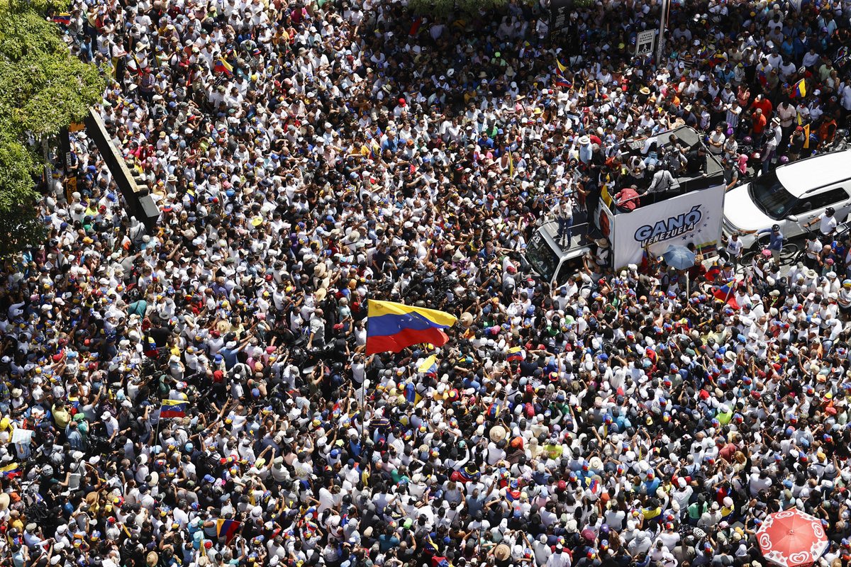
[[[661,256],[671,244],[715,250],[721,239],[724,185],[639,207],[614,218],[614,266],[640,264],[645,249]]]

